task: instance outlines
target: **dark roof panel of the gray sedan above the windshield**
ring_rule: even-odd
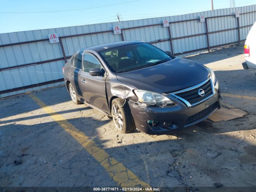
[[[110,49],[110,48],[114,48],[114,47],[130,45],[130,44],[136,44],[136,43],[142,43],[142,41],[120,41],[120,42],[105,43],[105,44],[100,44],[100,45],[83,48],[83,49],[80,49],[78,52],[83,52],[83,51],[92,50],[92,49],[100,52],[105,49]]]

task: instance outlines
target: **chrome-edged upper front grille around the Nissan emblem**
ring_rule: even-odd
[[[204,96],[200,96],[198,91],[202,89],[204,90]],[[172,94],[174,97],[180,99],[181,101],[185,102],[188,107],[194,106],[203,102],[214,95],[212,89],[212,82],[211,80],[207,80],[206,82],[202,83],[202,85],[197,86],[196,88],[191,88],[189,90],[178,91]],[[185,100],[185,101],[184,101]]]

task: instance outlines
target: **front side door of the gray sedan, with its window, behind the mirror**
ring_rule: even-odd
[[[83,71],[81,72],[81,88],[84,100],[98,109],[108,112],[108,102],[106,98],[106,73],[104,76],[91,76],[89,71],[93,68],[103,68],[98,58],[85,52],[83,57]]]

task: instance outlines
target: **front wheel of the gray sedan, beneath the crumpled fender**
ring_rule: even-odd
[[[135,123],[128,103],[120,98],[112,101],[111,116],[116,129],[122,133],[135,130]]]

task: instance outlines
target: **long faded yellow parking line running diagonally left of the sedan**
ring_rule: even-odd
[[[110,177],[117,182],[118,186],[146,186],[149,184],[143,182],[130,171],[122,163],[110,157],[102,148],[94,141],[87,141],[89,138],[83,132],[80,132],[74,125],[68,122],[63,116],[58,114],[52,108],[44,104],[42,100],[34,95],[29,95],[46,113],[51,114],[56,121],[66,132],[76,139],[84,149],[91,154],[105,168]]]

